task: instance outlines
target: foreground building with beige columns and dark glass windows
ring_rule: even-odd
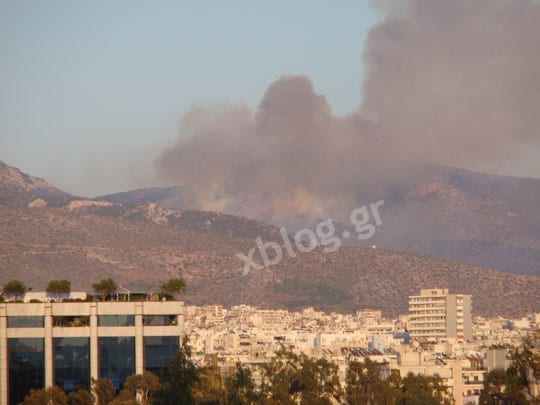
[[[160,302],[0,304],[0,404],[18,404],[31,388],[116,387],[134,373],[158,373],[176,356],[184,306]]]

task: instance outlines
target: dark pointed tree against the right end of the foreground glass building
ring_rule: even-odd
[[[191,361],[191,347],[187,336],[176,357],[161,377],[163,386],[156,392],[154,405],[195,404],[193,386],[199,381],[199,369]]]

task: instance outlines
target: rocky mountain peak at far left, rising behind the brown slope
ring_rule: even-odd
[[[0,206],[26,207],[41,198],[48,205],[65,205],[71,196],[45,180],[30,176],[0,161]]]

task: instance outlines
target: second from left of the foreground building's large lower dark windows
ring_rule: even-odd
[[[64,391],[90,387],[90,339],[54,339],[54,383]]]

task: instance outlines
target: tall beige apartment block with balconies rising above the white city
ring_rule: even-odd
[[[408,330],[411,338],[425,341],[472,338],[470,295],[449,294],[448,289],[423,289],[409,297]]]

